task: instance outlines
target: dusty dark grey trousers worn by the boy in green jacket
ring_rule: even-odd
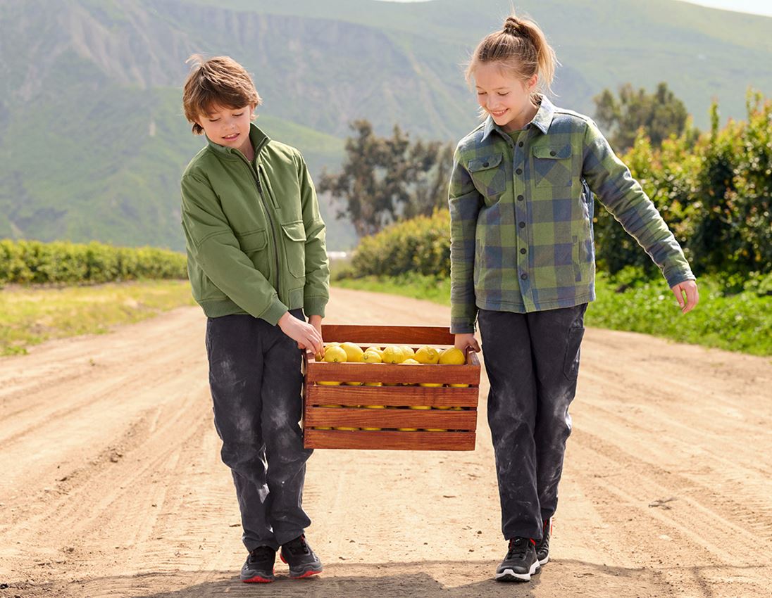
[[[290,311],[304,321],[303,310]],[[279,546],[311,521],[303,511],[302,351],[278,326],[245,314],[209,317],[209,385],[222,461],[233,474],[247,550]]]

